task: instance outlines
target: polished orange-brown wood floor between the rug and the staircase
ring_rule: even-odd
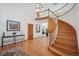
[[[0,51],[8,50],[14,47],[21,47],[26,53],[32,56],[54,56],[55,54],[48,50],[48,37],[40,37],[33,40],[26,40],[16,44],[4,46]]]

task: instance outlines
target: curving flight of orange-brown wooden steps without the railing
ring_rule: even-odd
[[[78,52],[74,28],[65,21],[58,20],[58,35],[49,50],[58,56],[75,56]]]

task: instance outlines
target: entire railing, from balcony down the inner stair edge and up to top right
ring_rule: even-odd
[[[63,14],[59,14],[57,15],[56,13],[63,10],[64,8],[67,8],[69,4],[65,4],[64,6],[62,6],[61,8],[55,10],[55,11],[51,11],[50,9],[46,9],[46,10],[43,10],[43,11],[39,11],[37,13],[37,17],[40,18],[40,17],[50,17],[52,21],[55,22],[55,25],[56,27],[54,28],[53,32],[49,32],[49,46],[52,46],[54,41],[56,40],[57,38],[57,35],[58,35],[58,17],[61,17],[67,13],[69,13],[74,7],[76,4],[72,4],[72,7],[69,8],[66,12],[64,12]]]

